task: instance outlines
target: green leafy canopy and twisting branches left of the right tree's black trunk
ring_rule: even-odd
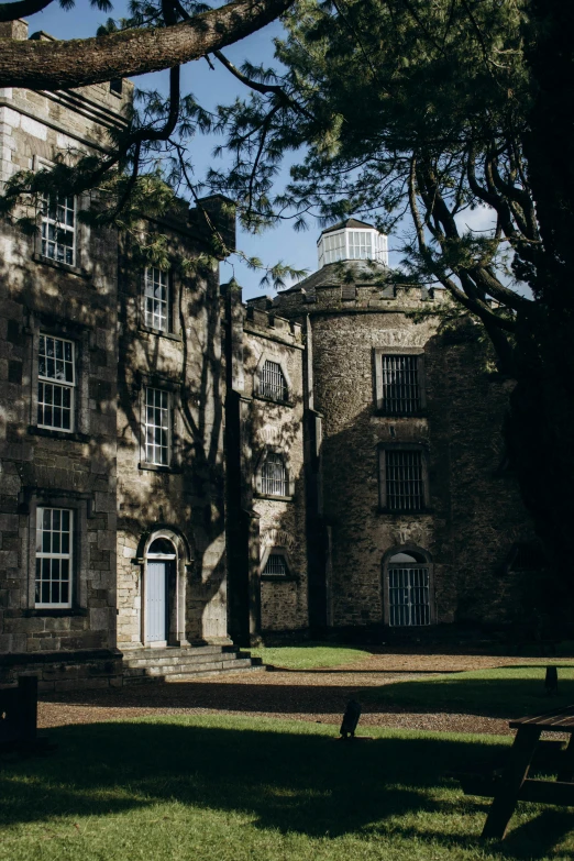
[[[277,56],[288,70],[275,80],[305,111],[282,115],[258,93],[221,109],[238,159],[212,185],[239,196],[254,227],[286,213],[299,228],[310,212],[325,221],[360,213],[393,232],[410,214],[408,276],[441,283],[477,313],[508,366],[504,333],[530,305],[511,287],[542,289],[525,155],[526,3],[301,0],[287,26]],[[287,192],[273,197],[278,159],[303,143]],[[492,231],[465,227],[477,207],[490,210]]]

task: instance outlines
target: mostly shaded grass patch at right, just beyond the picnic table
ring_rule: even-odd
[[[549,697],[545,693],[544,663],[398,682],[362,691],[361,699],[412,711],[450,711],[508,719],[542,714],[574,703],[574,664],[548,663],[558,666],[559,696]]]

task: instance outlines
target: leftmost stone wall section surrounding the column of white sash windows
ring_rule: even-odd
[[[60,95],[0,90],[0,178],[53,162],[63,148],[108,145],[128,98],[113,101],[103,86]],[[115,648],[117,235],[78,227],[74,266],[40,252],[37,235],[2,224],[0,651],[13,655],[12,667],[30,653],[48,660],[89,650],[96,661],[98,650]],[[73,343],[71,432],[37,427],[41,333]],[[73,511],[71,608],[35,606],[38,506]]]

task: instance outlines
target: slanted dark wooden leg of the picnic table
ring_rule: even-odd
[[[541,732],[542,729],[538,726],[518,729],[503,780],[488,812],[483,838],[504,840]]]

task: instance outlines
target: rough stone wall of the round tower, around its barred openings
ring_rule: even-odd
[[[493,375],[477,327],[439,329],[449,303],[442,290],[328,283],[312,289],[312,277],[310,289],[279,294],[273,306],[311,323],[330,623],[386,620],[384,560],[409,549],[432,563],[433,621],[508,621],[518,584],[505,561],[514,542],[532,538],[516,485],[497,477],[511,383]],[[386,350],[423,352],[427,404],[417,417],[377,411],[376,351]],[[429,498],[420,514],[380,506],[380,451],[401,444],[424,451]]]

